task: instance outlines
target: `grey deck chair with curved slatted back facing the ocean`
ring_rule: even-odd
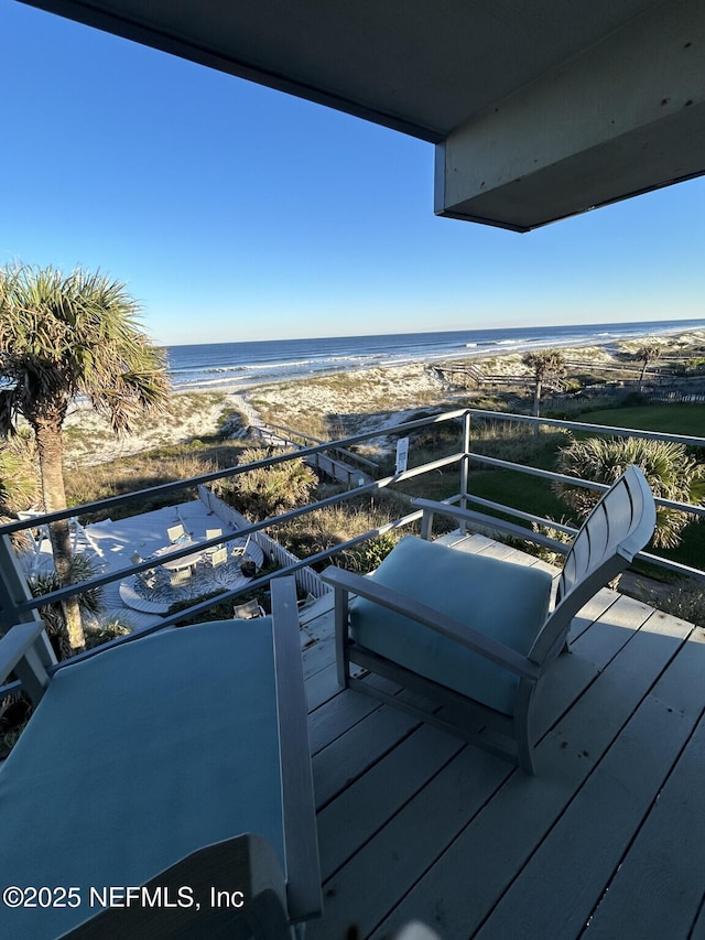
[[[514,534],[518,529],[447,504],[416,505],[424,510],[426,538],[434,512]],[[627,568],[654,525],[653,496],[641,471],[631,466],[576,534],[551,614],[547,572],[413,536],[402,539],[370,577],[330,566],[322,577],[336,594],[338,680],[533,774],[531,703],[539,680],[567,648],[573,617]],[[350,593],[358,599],[348,623]],[[350,662],[398,682],[432,707],[352,678]]]

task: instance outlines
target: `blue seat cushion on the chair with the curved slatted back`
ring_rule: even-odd
[[[372,579],[527,655],[545,623],[551,575],[408,536]],[[434,682],[512,714],[518,677],[442,634],[365,598],[354,640]]]

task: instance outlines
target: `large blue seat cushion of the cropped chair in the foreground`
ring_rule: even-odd
[[[0,769],[0,882],[78,887],[83,903],[4,908],[0,936],[56,937],[99,912],[90,886],[144,884],[245,832],[283,868],[279,754],[271,617],[166,629],[58,670]]]

